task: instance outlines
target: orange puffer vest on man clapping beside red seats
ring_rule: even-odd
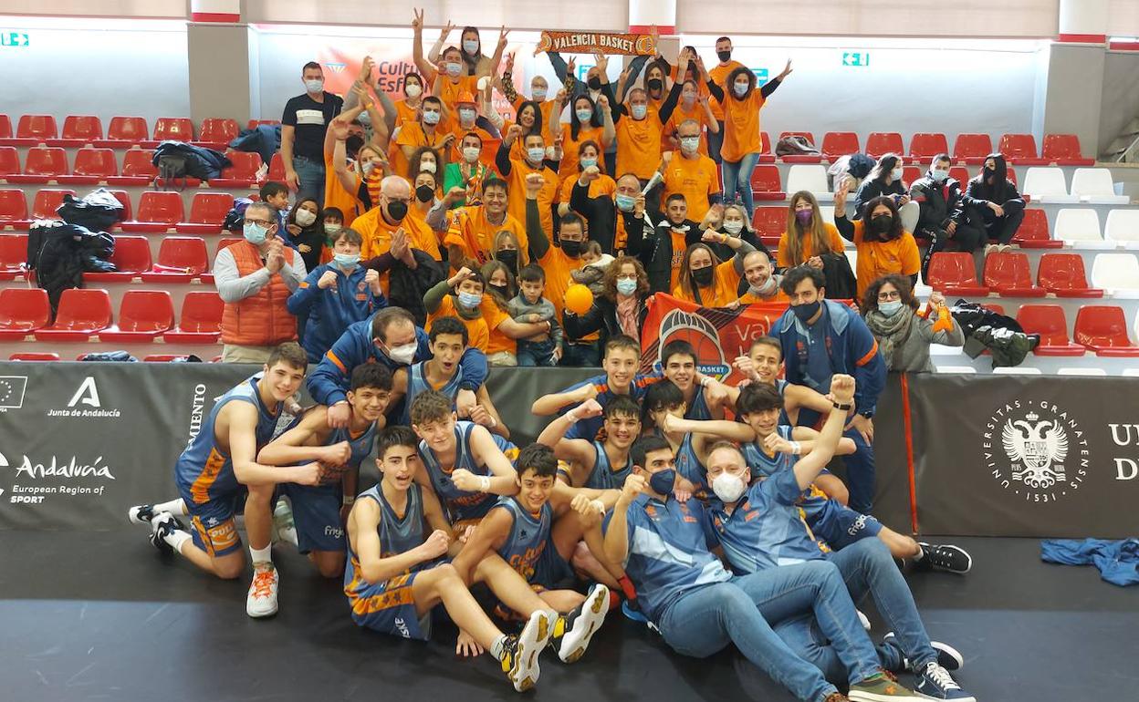
[[[237,272],[243,278],[265,266],[261,251],[248,241],[239,241],[229,247],[237,263]],[[285,248],[289,265],[297,253]],[[296,317],[285,307],[290,295],[288,286],[279,273],[269,279],[269,284],[236,303],[226,303],[221,316],[222,344],[238,346],[273,346],[285,341],[296,341]]]

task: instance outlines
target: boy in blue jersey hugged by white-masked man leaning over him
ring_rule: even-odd
[[[450,397],[452,403],[456,402],[462,389],[462,367],[459,361],[470,344],[469,335],[467,325],[459,317],[442,316],[432,321],[431,330],[427,332],[432,357],[395,371],[392,402],[396,403],[403,398],[405,407],[400,423],[411,422],[411,404],[426,390],[436,390]],[[478,404],[470,408],[470,421],[486,427],[491,433],[509,439],[510,430],[491,402],[485,383],[475,390],[475,398]]]

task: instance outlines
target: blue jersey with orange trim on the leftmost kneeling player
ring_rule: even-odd
[[[195,503],[206,503],[236,493],[238,489],[237,477],[233,474],[233,460],[222,449],[214,433],[218,415],[226,405],[231,402],[246,402],[257,408],[257,427],[254,430],[257,451],[273,437],[281,403],[269,408],[261,400],[261,393],[257,390],[261,377],[262,373],[256,373],[222,395],[210,411],[210,418],[203,422],[202,430],[178,457],[174,464],[174,481]]]

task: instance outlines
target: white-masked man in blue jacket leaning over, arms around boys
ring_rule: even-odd
[[[402,307],[385,307],[371,320],[357,322],[341,335],[309,377],[309,394],[328,407],[328,423],[343,429],[352,413],[345,397],[352,369],[362,363],[383,363],[394,373],[431,355],[427,332],[416,327],[411,313]],[[459,365],[462,366],[462,381],[456,405],[459,414],[466,416],[477,404],[475,391],[486,380],[486,356],[476,348],[468,348]]]

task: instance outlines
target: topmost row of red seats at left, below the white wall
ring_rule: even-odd
[[[248,129],[259,124],[280,124],[277,119],[249,119]],[[63,135],[56,129],[51,115],[23,115],[13,135],[11,119],[0,115],[0,144],[35,146],[46,143],[58,147],[97,146],[126,148],[142,146],[154,148],[159,141],[190,141],[200,146],[224,148],[237,138],[240,126],[237,119],[206,117],[195,139],[194,122],[188,117],[158,117],[154,123],[154,139],[142,117],[112,117],[107,137],[103,135],[103,121],[93,115],[67,115],[64,118]]]

